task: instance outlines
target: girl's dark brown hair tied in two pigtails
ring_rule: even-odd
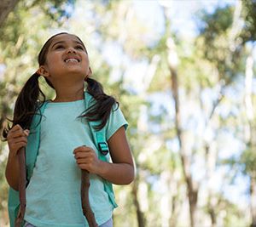
[[[39,65],[45,64],[49,46],[52,43],[53,38],[62,34],[68,33],[61,32],[55,34],[54,36],[50,37],[46,43],[44,43],[43,48],[38,54]],[[84,46],[84,43],[81,41],[81,39],[79,37],[77,38]],[[87,54],[85,46],[84,49]],[[38,77],[40,77],[40,75],[37,72],[34,73],[25,83],[24,87],[21,89],[20,94],[15,102],[14,118],[13,120],[9,120],[10,122],[12,122],[12,126],[8,126],[7,128],[3,129],[3,138],[7,138],[9,129],[13,128],[16,124],[19,124],[20,127],[24,129],[30,128],[32,123],[32,117],[37,114],[40,107],[44,104],[45,95],[43,91],[39,88]],[[44,79],[51,88],[54,88],[51,82],[46,79],[46,77],[44,77]],[[96,129],[99,130],[106,125],[113,105],[119,104],[112,96],[104,93],[101,83],[96,82],[96,80],[91,78],[87,78],[86,82],[88,83],[87,91],[90,95],[93,96],[96,102],[94,103],[94,105],[90,106],[89,110],[85,111],[83,116],[86,117],[88,121],[99,121],[99,125],[96,126]],[[39,114],[41,115],[41,113]]]

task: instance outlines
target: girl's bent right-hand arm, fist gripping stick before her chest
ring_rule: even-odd
[[[99,160],[95,151],[85,146],[76,148],[74,156],[81,169],[96,173],[113,184],[130,184],[134,179],[134,163],[124,127],[108,139],[108,147],[113,163]]]

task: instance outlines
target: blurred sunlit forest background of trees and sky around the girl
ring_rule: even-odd
[[[255,227],[255,25],[255,0],[2,0],[1,131],[44,42],[69,31],[130,123],[137,178],[114,187],[114,226]]]

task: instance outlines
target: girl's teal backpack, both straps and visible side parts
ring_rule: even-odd
[[[90,103],[94,102],[93,97],[84,92],[84,102],[85,102],[85,110],[90,107]],[[39,112],[41,114],[44,113],[44,109],[47,105],[47,101],[40,107]],[[26,185],[29,183],[29,180],[32,177],[32,170],[35,166],[37,156],[38,156],[38,149],[40,143],[40,115],[35,114],[32,119],[31,125],[31,133],[27,138],[27,145],[26,145]],[[93,136],[94,143],[96,148],[100,151],[98,158],[103,162],[109,162],[110,155],[108,150],[108,143],[106,140],[106,127],[102,128],[99,131],[96,131],[94,126],[98,125],[99,122],[89,122],[90,131]],[[118,207],[114,200],[114,193],[113,193],[113,185],[106,179],[103,179],[104,183],[104,190],[108,193],[109,201],[111,201],[113,207]],[[19,208],[20,208],[20,197],[19,191],[12,189],[9,187],[9,199],[8,199],[8,208],[9,208],[9,224],[11,227],[15,226],[15,219],[18,215]]]

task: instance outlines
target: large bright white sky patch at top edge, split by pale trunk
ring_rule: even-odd
[[[160,7],[166,7],[172,20],[173,31],[177,31],[184,37],[195,37],[197,34],[195,16],[199,10],[213,12],[217,7],[236,4],[236,2],[237,0],[133,0],[139,17],[154,25],[160,32],[164,29]]]

